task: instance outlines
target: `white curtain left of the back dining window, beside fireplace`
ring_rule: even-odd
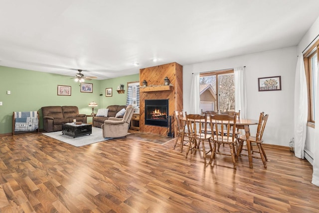
[[[190,113],[187,114],[199,114],[200,113],[200,97],[199,97],[199,73],[193,73],[193,78],[190,87]]]

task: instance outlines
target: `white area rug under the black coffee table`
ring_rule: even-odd
[[[110,140],[112,138],[103,138],[102,129],[98,127],[92,127],[91,135],[83,135],[73,138],[72,136],[62,135],[62,131],[42,133],[56,140],[62,141],[67,144],[71,144],[75,147],[81,147],[89,144],[94,144],[100,141]]]

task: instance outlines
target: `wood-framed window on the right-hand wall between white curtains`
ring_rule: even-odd
[[[315,123],[315,100],[318,76],[319,41],[304,54],[305,71],[308,87],[308,121]]]

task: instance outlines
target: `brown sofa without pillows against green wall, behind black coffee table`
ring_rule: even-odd
[[[61,131],[62,124],[73,122],[73,119],[86,123],[86,115],[79,114],[77,106],[45,106],[41,110],[46,132]]]

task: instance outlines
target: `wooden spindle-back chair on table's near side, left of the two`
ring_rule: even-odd
[[[212,151],[210,142],[211,134],[207,134],[207,114],[189,114],[185,112],[186,125],[188,130],[188,147],[185,158],[187,158],[188,152],[192,153],[193,150],[199,150],[200,143],[202,143],[202,152],[204,156],[204,163],[206,164],[206,154]],[[205,141],[209,143],[210,150],[206,152]],[[192,145],[193,144],[193,145]]]

